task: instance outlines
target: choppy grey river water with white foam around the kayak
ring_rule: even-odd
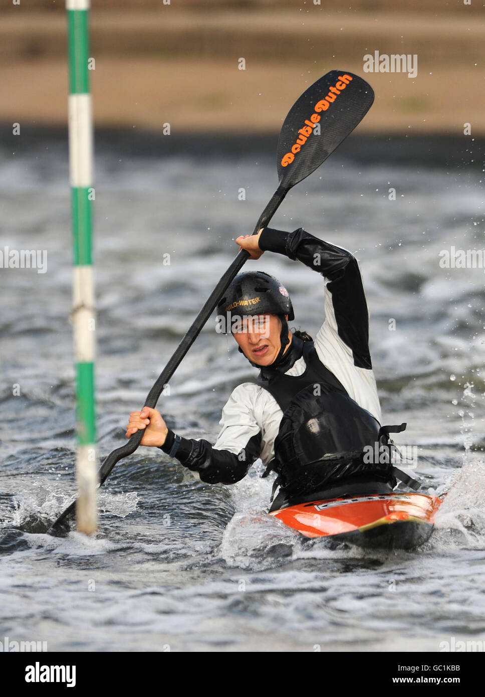
[[[302,541],[265,513],[261,463],[210,487],[144,447],[100,491],[98,535],[45,535],[75,491],[67,150],[52,133],[3,147],[0,247],[47,250],[47,272],[0,269],[0,639],[66,651],[437,651],[452,636],[485,639],[484,268],[439,264],[452,245],[485,249],[483,173],[471,151],[409,142],[409,158],[403,141],[386,159],[385,139],[349,140],[272,221],[355,252],[383,418],[408,422],[396,440],[418,447],[424,491],[449,490],[429,543],[390,555]],[[277,185],[269,148],[222,141],[207,153],[98,136],[100,458],[124,442],[128,413]],[[270,253],[251,268],[281,277],[293,325],[316,332],[321,277]],[[214,439],[229,392],[254,376],[211,320],[160,409],[178,433]]]

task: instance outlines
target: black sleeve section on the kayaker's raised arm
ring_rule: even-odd
[[[265,227],[259,237],[261,250],[298,259],[329,279],[339,337],[351,349],[359,368],[372,368],[369,352],[369,313],[355,256],[341,247],[319,240],[302,228],[283,232]]]

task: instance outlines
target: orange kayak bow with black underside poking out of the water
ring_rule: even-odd
[[[271,513],[305,537],[361,547],[413,549],[429,539],[441,498],[424,493],[344,496]]]

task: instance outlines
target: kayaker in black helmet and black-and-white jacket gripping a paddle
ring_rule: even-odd
[[[270,510],[344,493],[387,493],[399,470],[389,458],[366,461],[364,446],[387,443],[369,353],[369,316],[357,260],[300,228],[265,227],[236,239],[252,259],[265,251],[297,259],[325,278],[325,321],[316,337],[288,329],[294,319],[285,287],[256,271],[233,280],[218,305],[241,351],[260,374],[236,387],[222,410],[214,445],[176,435],[160,412],[133,411],[129,438],[160,447],[203,482],[233,484],[261,457],[279,493]],[[406,475],[400,477],[406,480]],[[413,481],[413,480],[410,480]]]

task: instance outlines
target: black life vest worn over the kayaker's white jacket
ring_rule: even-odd
[[[304,343],[302,355],[306,369],[300,376],[264,369],[257,381],[283,411],[275,438],[275,459],[263,475],[271,470],[277,472],[278,507],[283,507],[283,502],[302,503],[316,493],[318,498],[325,498],[326,490],[344,482],[380,482],[390,491],[399,472],[392,466],[390,451],[387,450],[388,457],[369,462],[362,457],[364,447],[375,449],[376,443],[378,447],[387,446],[389,433],[403,431],[406,424],[381,427],[323,365],[314,342]],[[399,478],[408,480],[407,484],[415,481],[402,474]],[[362,493],[371,493],[369,487],[364,487]]]

